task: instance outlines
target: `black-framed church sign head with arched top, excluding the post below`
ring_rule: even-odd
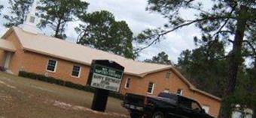
[[[93,60],[87,84],[103,90],[119,92],[123,66],[111,60]]]

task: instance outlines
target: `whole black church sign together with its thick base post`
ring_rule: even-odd
[[[91,109],[105,111],[109,91],[119,92],[123,66],[111,60],[93,60],[87,84],[96,88]]]

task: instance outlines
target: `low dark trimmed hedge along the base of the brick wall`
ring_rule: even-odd
[[[62,79],[46,77],[45,75],[38,75],[38,74],[35,74],[32,72],[20,71],[19,76],[24,77],[24,78],[36,79],[39,81],[45,81],[45,82],[48,82],[51,84],[58,84],[61,86],[70,87],[70,88],[74,88],[77,90],[84,90],[84,91],[92,92],[92,93],[95,93],[95,91],[96,91],[96,88],[94,88],[94,87],[83,86],[81,84],[74,84],[71,81],[62,81]],[[116,92],[110,92],[109,96],[114,97],[116,99],[123,99],[123,95],[120,93],[116,93]]]

